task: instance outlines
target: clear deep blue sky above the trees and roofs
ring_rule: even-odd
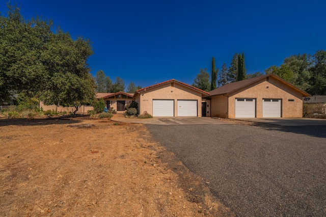
[[[6,0],[0,11],[7,12]],[[175,78],[189,85],[200,68],[229,66],[244,52],[247,73],[326,49],[326,1],[16,0],[25,18],[52,19],[93,43],[91,73],[103,70],[146,87]]]

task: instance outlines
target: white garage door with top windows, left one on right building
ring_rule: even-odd
[[[255,118],[256,100],[255,99],[235,99],[236,118]]]

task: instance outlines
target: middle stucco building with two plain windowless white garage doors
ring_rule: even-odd
[[[202,99],[208,95],[206,91],[171,79],[139,89],[133,98],[138,102],[139,114],[147,112],[153,117],[210,117],[210,110],[206,110],[210,100]]]

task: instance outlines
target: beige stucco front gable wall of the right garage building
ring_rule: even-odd
[[[267,88],[268,87],[268,88]],[[290,86],[281,83],[279,80],[269,77],[269,81],[262,80],[259,83],[249,86],[247,89],[237,91],[229,95],[228,118],[235,118],[235,99],[236,98],[255,98],[256,117],[262,118],[263,99],[282,99],[281,116],[283,118],[302,118],[302,94]],[[294,99],[294,102],[289,102]],[[213,106],[213,105],[212,105]]]

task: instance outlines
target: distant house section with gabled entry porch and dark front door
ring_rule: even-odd
[[[96,93],[96,98],[103,98],[105,106],[117,112],[124,112],[125,105],[132,102],[133,93]]]

